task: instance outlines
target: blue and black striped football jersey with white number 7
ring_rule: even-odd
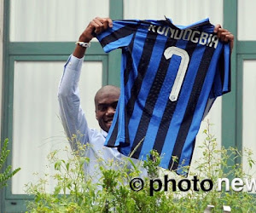
[[[230,91],[230,44],[213,29],[208,19],[189,26],[115,20],[97,36],[105,52],[122,49],[121,93],[106,146],[143,160],[154,149],[161,167],[184,174],[201,120]]]

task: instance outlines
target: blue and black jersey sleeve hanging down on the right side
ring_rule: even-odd
[[[219,56],[211,98],[216,98],[228,92],[230,92],[230,43],[225,43]]]

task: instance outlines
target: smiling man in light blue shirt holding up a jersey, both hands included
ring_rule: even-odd
[[[90,21],[89,25],[80,35],[79,43],[74,49],[73,55],[67,60],[58,94],[61,120],[72,147],[76,146],[76,140],[73,140],[73,135],[78,134],[82,134],[79,140],[81,143],[89,143],[91,145],[87,152],[87,157],[90,158],[90,164],[84,166],[85,172],[91,176],[95,176],[97,171],[95,167],[97,158],[100,157],[104,161],[113,159],[120,163],[124,158],[127,158],[119,153],[116,148],[104,147],[104,141],[112,124],[115,107],[119,99],[119,89],[114,86],[105,86],[96,93],[96,119],[102,128],[102,132],[90,130],[88,127],[84,112],[80,106],[78,90],[81,66],[86,47],[89,46],[88,43],[90,43],[90,40],[95,34],[101,33],[112,26],[112,20],[109,18],[96,17]],[[214,32],[217,33],[222,41],[230,41],[231,48],[233,47],[234,36],[229,31],[217,25],[215,26]],[[132,160],[136,163],[139,162],[137,159]],[[145,170],[143,170],[143,174],[146,174]],[[97,175],[97,177],[100,176],[100,174]]]

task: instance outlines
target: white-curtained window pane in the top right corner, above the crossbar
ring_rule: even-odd
[[[238,0],[238,34],[239,40],[256,40],[256,1]]]

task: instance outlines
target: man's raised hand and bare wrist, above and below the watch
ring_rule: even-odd
[[[99,34],[108,29],[108,27],[112,27],[113,22],[109,18],[100,18],[96,17],[91,20],[89,25],[85,28],[84,32],[79,37],[79,42],[89,43],[90,40],[95,37],[96,34]],[[81,47],[79,45],[76,46],[76,49],[73,51],[73,56],[81,59],[84,57],[86,48]]]

